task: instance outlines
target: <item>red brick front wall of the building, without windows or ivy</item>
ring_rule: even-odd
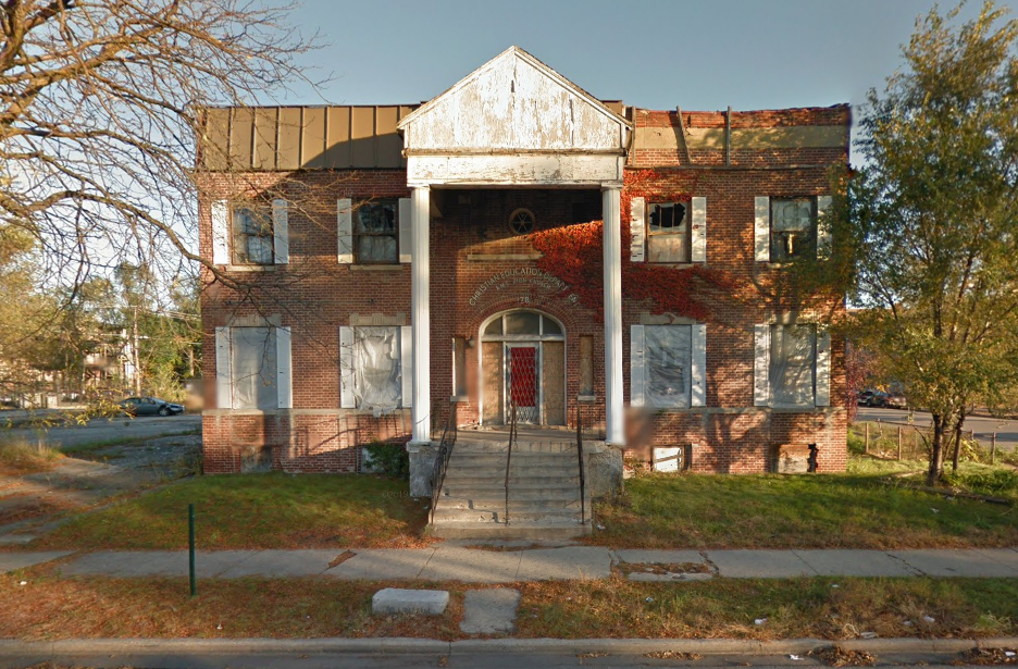
[[[637,110],[641,111],[641,110]],[[684,112],[685,113],[685,112]],[[692,112],[688,124],[723,127],[723,113]],[[650,112],[637,123],[676,124],[674,112]],[[734,127],[846,123],[844,108],[733,114]],[[713,125],[711,125],[713,124]],[[637,157],[633,157],[634,159]],[[731,169],[717,169],[723,152],[705,151],[698,164],[682,166],[675,152],[638,157],[641,169],[655,171],[650,187],[684,190],[707,198],[707,265],[723,271],[749,299],[718,297],[708,301],[707,407],[681,411],[630,410],[630,447],[649,458],[649,445],[695,444],[694,469],[713,472],[762,471],[777,444],[816,443],[820,471],[845,466],[845,412],[842,407],[815,411],[778,411],[753,407],[753,326],[786,312],[793,305],[775,288],[779,271],[754,260],[754,197],[829,193],[828,165],[843,163],[845,149],[770,149],[736,151]],[[799,165],[799,166],[796,166]],[[808,166],[802,166],[808,165]],[[811,166],[809,166],[811,165]],[[777,169],[772,169],[777,168]],[[401,314],[410,324],[410,267],[355,269],[336,260],[336,199],[409,197],[406,174],[398,170],[358,172],[198,175],[201,252],[211,257],[210,202],[272,191],[291,202],[290,264],[263,272],[229,272],[225,281],[202,272],[204,377],[209,410],[203,421],[206,471],[238,471],[252,448],[268,448],[272,466],[285,471],[356,471],[359,445],[372,439],[409,438],[409,410],[374,418],[339,409],[338,331],[351,314]],[[600,218],[599,191],[584,190],[450,190],[434,191],[443,216],[431,225],[432,426],[440,430],[451,394],[451,339],[474,337],[485,319],[507,309],[534,308],[566,329],[567,417],[575,416],[579,391],[579,337],[594,339],[595,392],[598,404],[585,422],[604,420],[604,331],[597,314],[575,302],[572,287],[534,285],[531,274],[509,274],[479,293],[502,272],[536,270],[531,259],[471,259],[471,256],[533,253],[525,237],[508,227],[517,208],[530,209],[539,228],[570,225],[576,216]],[[629,214],[623,212],[623,225]],[[629,262],[623,249],[623,262]],[[523,281],[513,283],[514,280]],[[500,285],[505,284],[505,285]],[[498,287],[500,285],[500,287]],[[623,286],[623,379],[629,398],[629,333],[651,305],[626,300]],[[841,308],[835,306],[835,308]],[[231,318],[262,315],[293,331],[294,409],[238,412],[216,409],[214,327]],[[477,349],[468,350],[468,379],[476,380]],[[832,401],[844,397],[843,342],[832,346]],[[480,383],[460,405],[458,422],[479,419]]]

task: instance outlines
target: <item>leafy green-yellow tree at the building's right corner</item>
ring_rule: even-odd
[[[953,25],[933,9],[905,67],[871,90],[817,263],[860,307],[854,337],[932,413],[928,481],[943,473],[973,405],[1018,386],[1018,22],[992,1]]]

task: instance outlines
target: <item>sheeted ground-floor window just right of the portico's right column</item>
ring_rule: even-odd
[[[690,325],[646,325],[646,406],[690,406],[693,330]]]

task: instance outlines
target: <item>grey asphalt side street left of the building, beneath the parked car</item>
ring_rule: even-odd
[[[148,439],[172,434],[187,434],[201,430],[200,414],[182,414],[162,418],[139,416],[138,418],[97,418],[87,425],[70,428],[25,429],[16,428],[5,433],[26,439],[42,439],[53,447],[86,446],[121,439]]]

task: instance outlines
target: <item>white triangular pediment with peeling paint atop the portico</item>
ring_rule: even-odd
[[[630,123],[511,47],[404,119],[414,153],[619,152]]]

